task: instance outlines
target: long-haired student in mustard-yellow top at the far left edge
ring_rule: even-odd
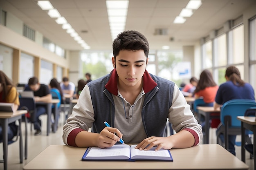
[[[19,96],[15,86],[12,84],[11,80],[7,75],[0,71],[0,102],[1,103],[14,103],[13,111],[18,109],[20,105]],[[8,125],[8,141],[13,139],[17,134],[18,126],[15,122]],[[2,141],[2,126],[0,125],[0,141]]]

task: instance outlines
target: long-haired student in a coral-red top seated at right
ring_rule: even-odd
[[[213,76],[209,70],[204,70],[200,74],[200,79],[195,88],[195,99],[203,98],[204,103],[200,106],[213,106],[218,85],[214,82]]]

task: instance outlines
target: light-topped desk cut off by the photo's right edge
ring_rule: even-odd
[[[256,170],[256,120],[255,117],[253,116],[238,116],[237,117],[238,120],[241,121],[241,131],[242,131],[242,141],[241,141],[241,160],[243,162],[245,162],[245,128],[252,130],[252,132],[254,133],[253,135],[253,156],[254,156],[254,169]]]

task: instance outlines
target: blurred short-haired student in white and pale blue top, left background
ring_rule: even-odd
[[[63,96],[66,98],[66,102],[70,103],[70,98],[74,96],[75,84],[70,82],[67,77],[63,77],[61,82],[61,90],[63,92]]]

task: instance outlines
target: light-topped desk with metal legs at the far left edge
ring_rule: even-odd
[[[27,113],[27,110],[17,110],[15,113],[11,114],[9,112],[0,112],[0,124],[2,126],[3,135],[3,154],[4,154],[4,170],[7,170],[7,156],[8,156],[8,124],[16,120],[19,120],[21,125],[21,117],[23,114]],[[20,149],[23,152],[23,142],[22,142],[22,130],[20,128]],[[20,163],[23,162],[23,155],[20,153]]]

